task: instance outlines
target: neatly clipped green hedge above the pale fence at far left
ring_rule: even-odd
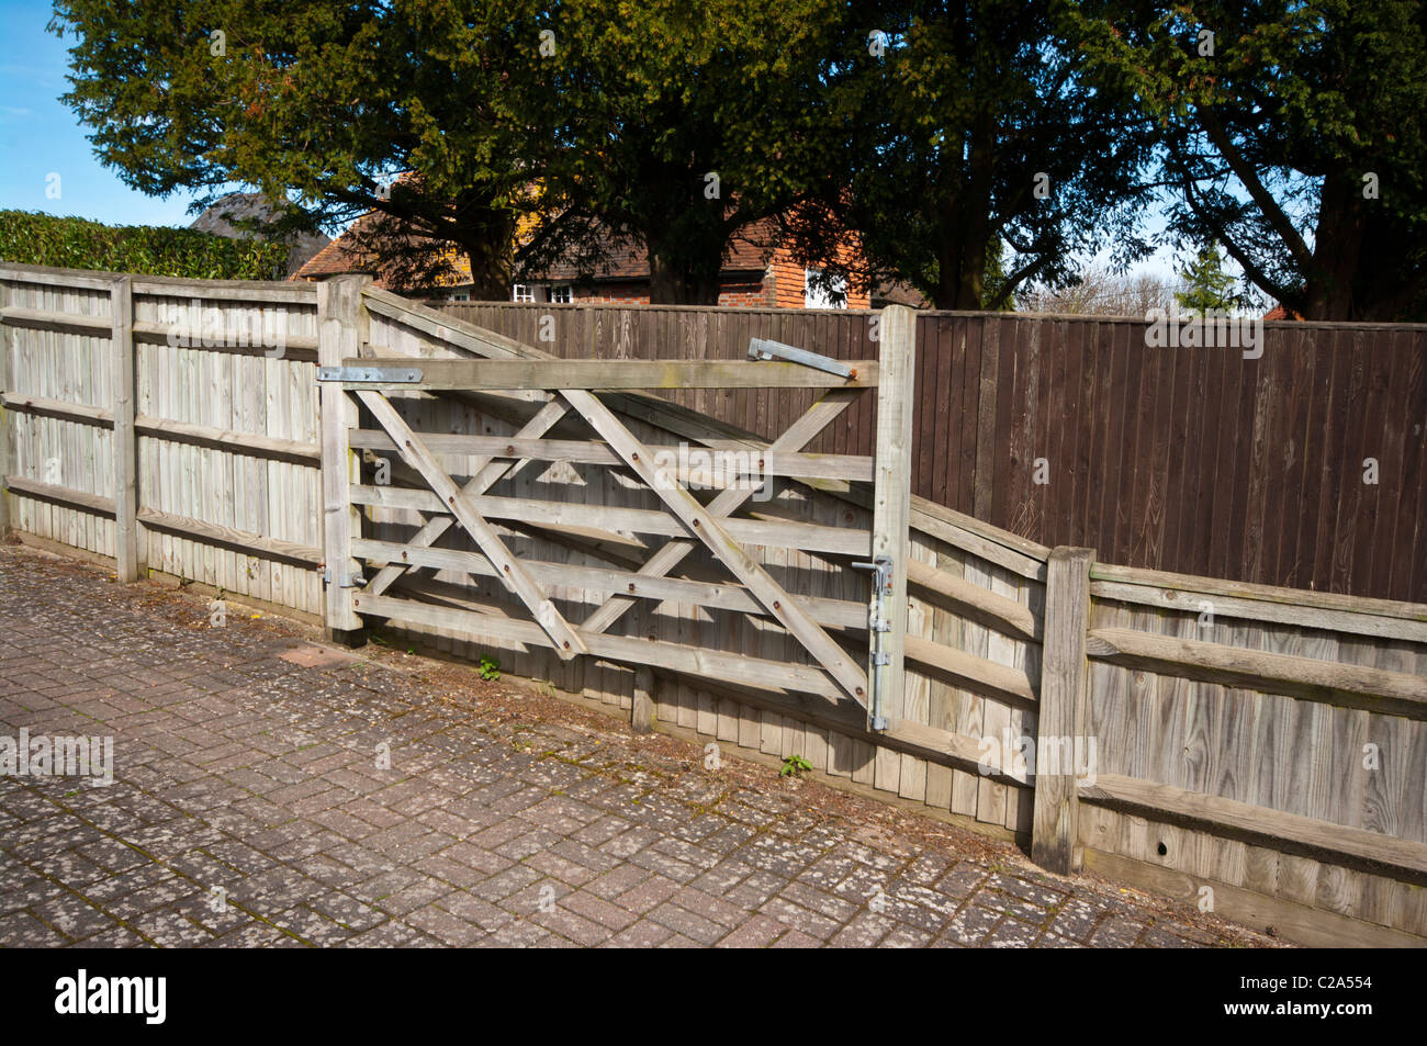
[[[287,247],[195,228],[104,225],[40,211],[0,211],[0,260],[190,280],[281,280]]]

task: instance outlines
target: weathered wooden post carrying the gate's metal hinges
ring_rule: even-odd
[[[344,357],[358,355],[365,327],[361,291],[371,283],[365,275],[338,275],[317,285],[317,365],[341,367]],[[323,629],[328,639],[358,646],[365,641],[361,616],[352,606],[357,562],[352,534],[361,532],[361,514],[351,501],[351,484],[361,479],[360,459],[352,454],[347,431],[357,424],[357,404],[341,382],[318,385],[323,437]]]

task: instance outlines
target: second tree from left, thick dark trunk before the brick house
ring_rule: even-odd
[[[652,301],[716,303],[733,240],[825,177],[823,76],[846,19],[828,0],[564,6],[547,190],[568,207],[529,264],[636,245]]]

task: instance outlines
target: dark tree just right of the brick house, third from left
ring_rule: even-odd
[[[1143,254],[1147,137],[1127,104],[1086,88],[1083,66],[1052,0],[859,9],[828,78],[833,174],[803,250],[850,231],[863,283],[909,283],[939,308],[1002,308],[1106,245]]]

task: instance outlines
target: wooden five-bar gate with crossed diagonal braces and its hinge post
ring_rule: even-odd
[[[776,342],[755,342],[755,358],[748,361],[532,360],[527,347],[502,344],[495,335],[479,338],[484,358],[414,360],[361,337],[361,294],[357,280],[331,281],[320,290],[317,377],[324,422],[328,628],[355,632],[367,621],[391,618],[459,628],[545,646],[562,661],[594,655],[705,682],[772,685],[832,702],[850,701],[866,711],[875,731],[886,731],[900,718],[909,310],[888,313],[879,360],[852,362]],[[408,311],[405,303],[398,305],[400,300],[380,291],[367,288],[365,295],[377,311],[382,305]],[[688,388],[815,388],[822,395],[763,450],[654,442],[599,395]],[[514,435],[418,431],[432,398],[471,402],[479,394],[499,397],[507,410],[512,402],[525,404],[529,417]],[[863,395],[878,397],[875,457],[803,452]],[[551,438],[557,430],[562,438]],[[382,482],[362,478],[361,451],[385,455],[372,468]],[[401,468],[392,471],[394,461]],[[557,501],[517,491],[522,472],[554,462],[619,471],[629,481],[631,499],[654,507]],[[842,491],[865,488],[873,505],[870,528],[759,518],[749,511],[771,498],[779,479],[831,484]],[[702,499],[696,491],[706,491]],[[382,509],[412,519],[414,529],[402,541],[362,534],[364,519],[384,521]],[[634,569],[592,568],[518,555],[509,535],[532,529],[586,552],[625,535],[659,541],[642,548],[642,562]],[[454,548],[448,535],[462,539],[465,548]],[[761,555],[751,555],[751,545],[796,549],[823,557],[829,569],[862,571],[868,596],[849,601],[798,591],[775,578]],[[672,577],[685,574],[681,568],[695,551],[704,554],[702,577]],[[495,579],[525,616],[422,598],[431,595],[422,592],[424,569]],[[571,587],[601,596],[582,619],[571,619],[558,605],[569,601],[554,595]],[[776,622],[796,641],[801,656],[772,661],[732,652],[726,642],[621,635],[615,626],[641,601]],[[735,624],[723,618],[722,626],[732,629]],[[639,704],[641,712],[648,708],[648,702]],[[639,722],[641,715],[635,719],[648,726]]]

